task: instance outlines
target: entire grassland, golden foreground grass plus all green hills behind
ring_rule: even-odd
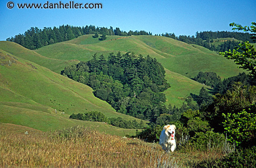
[[[0,167],[193,168],[221,158],[221,149],[188,147],[166,154],[157,143],[122,138],[134,135],[135,129],[69,119],[73,113],[92,110],[107,117],[136,119],[117,113],[94,97],[87,85],[60,75],[67,65],[87,61],[95,52],[107,57],[118,51],[149,54],[162,63],[171,85],[164,92],[166,104],[176,106],[181,106],[190,93],[198,94],[203,86],[208,87],[190,79],[199,71],[215,71],[222,78],[242,71],[232,60],[202,46],[159,36],[108,36],[99,41],[85,35],[35,51],[1,41]]]

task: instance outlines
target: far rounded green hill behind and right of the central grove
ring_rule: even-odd
[[[189,45],[162,36],[108,36],[100,41],[92,35],[47,45],[35,52],[58,60],[88,61],[96,52],[105,57],[110,52],[134,52],[156,58],[166,68],[171,88],[165,91],[167,102],[181,106],[190,93],[198,94],[202,84],[192,81],[199,71],[214,71],[222,78],[237,75],[241,69],[232,61],[199,45]],[[49,69],[53,70],[51,67]]]

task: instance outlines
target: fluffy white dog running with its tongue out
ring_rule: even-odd
[[[166,152],[173,152],[176,149],[175,129],[175,125],[166,125],[161,132],[159,144]],[[170,134],[173,134],[173,137]]]

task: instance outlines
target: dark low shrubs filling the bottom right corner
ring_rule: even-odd
[[[237,149],[222,159],[208,160],[196,165],[197,168],[255,168],[256,146],[249,149]]]

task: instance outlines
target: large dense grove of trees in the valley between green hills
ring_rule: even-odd
[[[170,85],[155,58],[118,52],[110,53],[106,60],[94,54],[92,60],[67,66],[61,74],[89,85],[96,97],[120,113],[155,122],[167,110],[162,91]]]

